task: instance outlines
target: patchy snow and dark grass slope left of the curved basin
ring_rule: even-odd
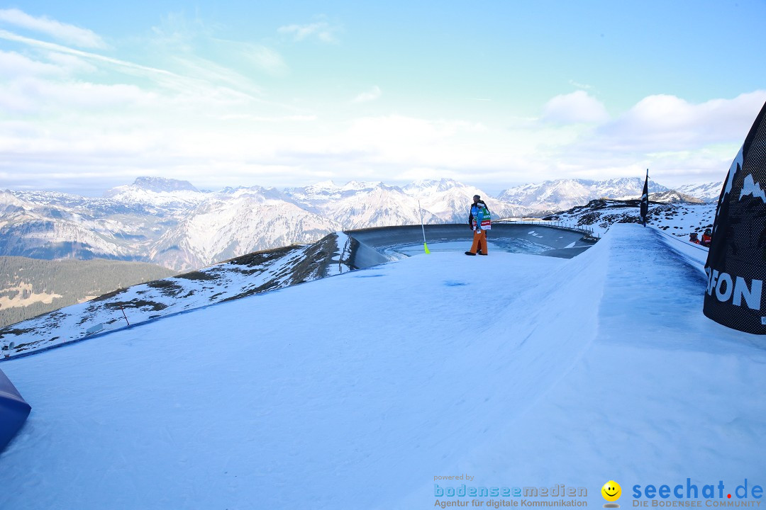
[[[254,252],[172,278],[133,285],[0,329],[15,356],[127,325],[350,271],[342,232],[312,245]],[[8,352],[8,351],[4,351]]]

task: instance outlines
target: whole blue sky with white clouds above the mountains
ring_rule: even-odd
[[[722,180],[766,2],[0,7],[0,187]]]

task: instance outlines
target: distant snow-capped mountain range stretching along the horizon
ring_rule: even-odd
[[[716,186],[720,189],[687,187],[686,193],[707,200]],[[464,223],[475,194],[502,218],[552,213],[594,198],[638,197],[642,187],[640,178],[552,180],[490,197],[441,179],[404,187],[326,181],[284,190],[211,192],[183,180],[139,177],[101,198],[5,190],[0,191],[0,255],[113,258],[188,271],[257,250],[316,242],[342,229],[417,224],[421,214],[425,223]],[[659,184],[651,184],[650,191],[669,193]],[[671,195],[666,200],[689,200]]]

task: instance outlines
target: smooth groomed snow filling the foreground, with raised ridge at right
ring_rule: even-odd
[[[696,250],[620,224],[571,260],[434,252],[3,362],[32,412],[0,508],[763,486],[763,339],[702,315]]]

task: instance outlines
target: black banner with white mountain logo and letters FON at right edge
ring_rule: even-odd
[[[728,170],[705,263],[702,312],[735,330],[766,335],[766,104]]]

